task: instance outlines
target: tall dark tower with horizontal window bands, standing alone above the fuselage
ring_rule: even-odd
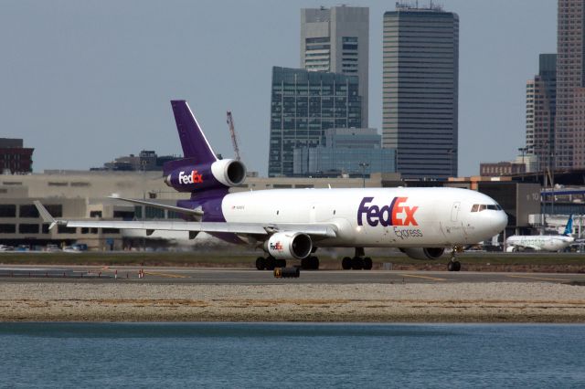
[[[440,6],[384,14],[383,146],[405,178],[457,175],[459,16]]]

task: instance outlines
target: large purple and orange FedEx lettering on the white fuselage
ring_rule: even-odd
[[[403,205],[408,197],[394,197],[390,205],[369,205],[374,197],[364,197],[357,208],[357,225],[364,225],[364,216],[369,226],[419,226],[414,218],[419,206]]]

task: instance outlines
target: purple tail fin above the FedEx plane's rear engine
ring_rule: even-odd
[[[179,132],[184,158],[188,158],[190,163],[194,164],[218,161],[186,100],[171,100],[171,106],[175,114],[176,130]]]

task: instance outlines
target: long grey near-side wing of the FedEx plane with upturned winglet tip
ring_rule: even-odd
[[[187,222],[187,221],[122,221],[122,220],[66,220],[55,219],[47,208],[39,201],[34,202],[38,213],[46,223],[50,223],[49,229],[54,226],[85,227],[85,228],[119,228],[119,229],[144,229],[146,235],[152,235],[155,230],[188,231],[190,237],[195,237],[198,232],[233,233],[240,235],[264,235],[269,236],[279,231],[303,232],[312,237],[336,237],[336,227],[330,224],[261,224],[261,223],[228,223],[228,222]]]

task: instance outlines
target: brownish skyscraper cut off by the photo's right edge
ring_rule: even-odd
[[[585,0],[558,0],[554,168],[585,167]]]

